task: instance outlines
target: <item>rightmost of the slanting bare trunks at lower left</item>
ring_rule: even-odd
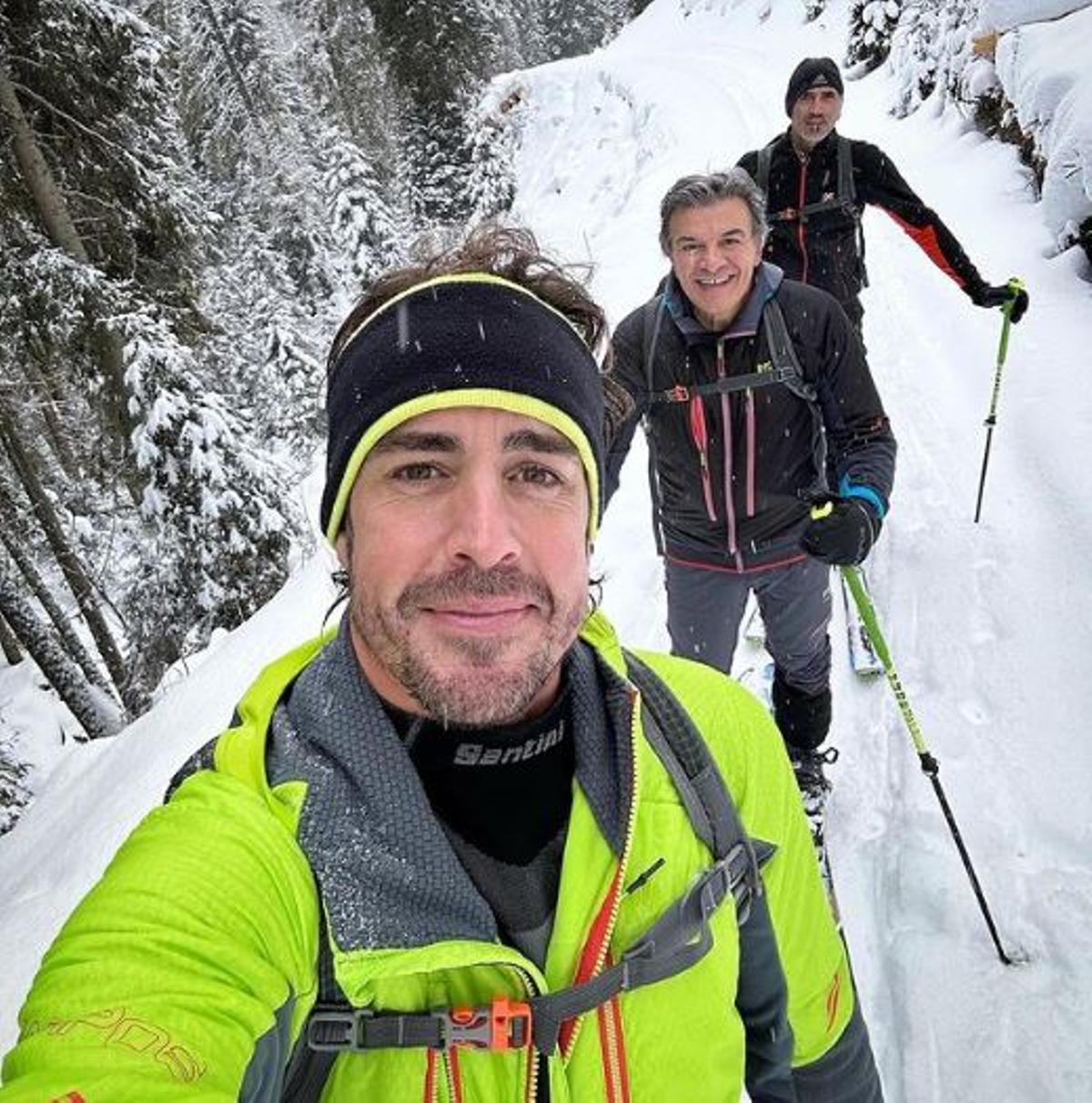
[[[121,658],[121,653],[118,651],[106,619],[98,608],[92,581],[87,577],[83,564],[79,561],[79,557],[75,554],[64,535],[61,523],[53,510],[53,503],[50,501],[49,495],[42,486],[42,481],[38,476],[34,461],[23,447],[19,431],[15,428],[14,419],[11,417],[7,403],[2,398],[0,398],[0,441],[3,442],[15,472],[22,481],[34,516],[45,533],[45,538],[53,550],[57,566],[61,568],[64,579],[68,583],[76,603],[79,606],[79,611],[83,613],[92,638],[95,640],[95,646],[103,656],[103,662],[106,663],[106,668],[109,671],[114,684],[118,687],[121,700],[131,715],[138,716],[147,704],[144,695],[137,692],[129,684],[125,661]],[[19,631],[15,624],[12,624],[12,628],[17,632]]]

